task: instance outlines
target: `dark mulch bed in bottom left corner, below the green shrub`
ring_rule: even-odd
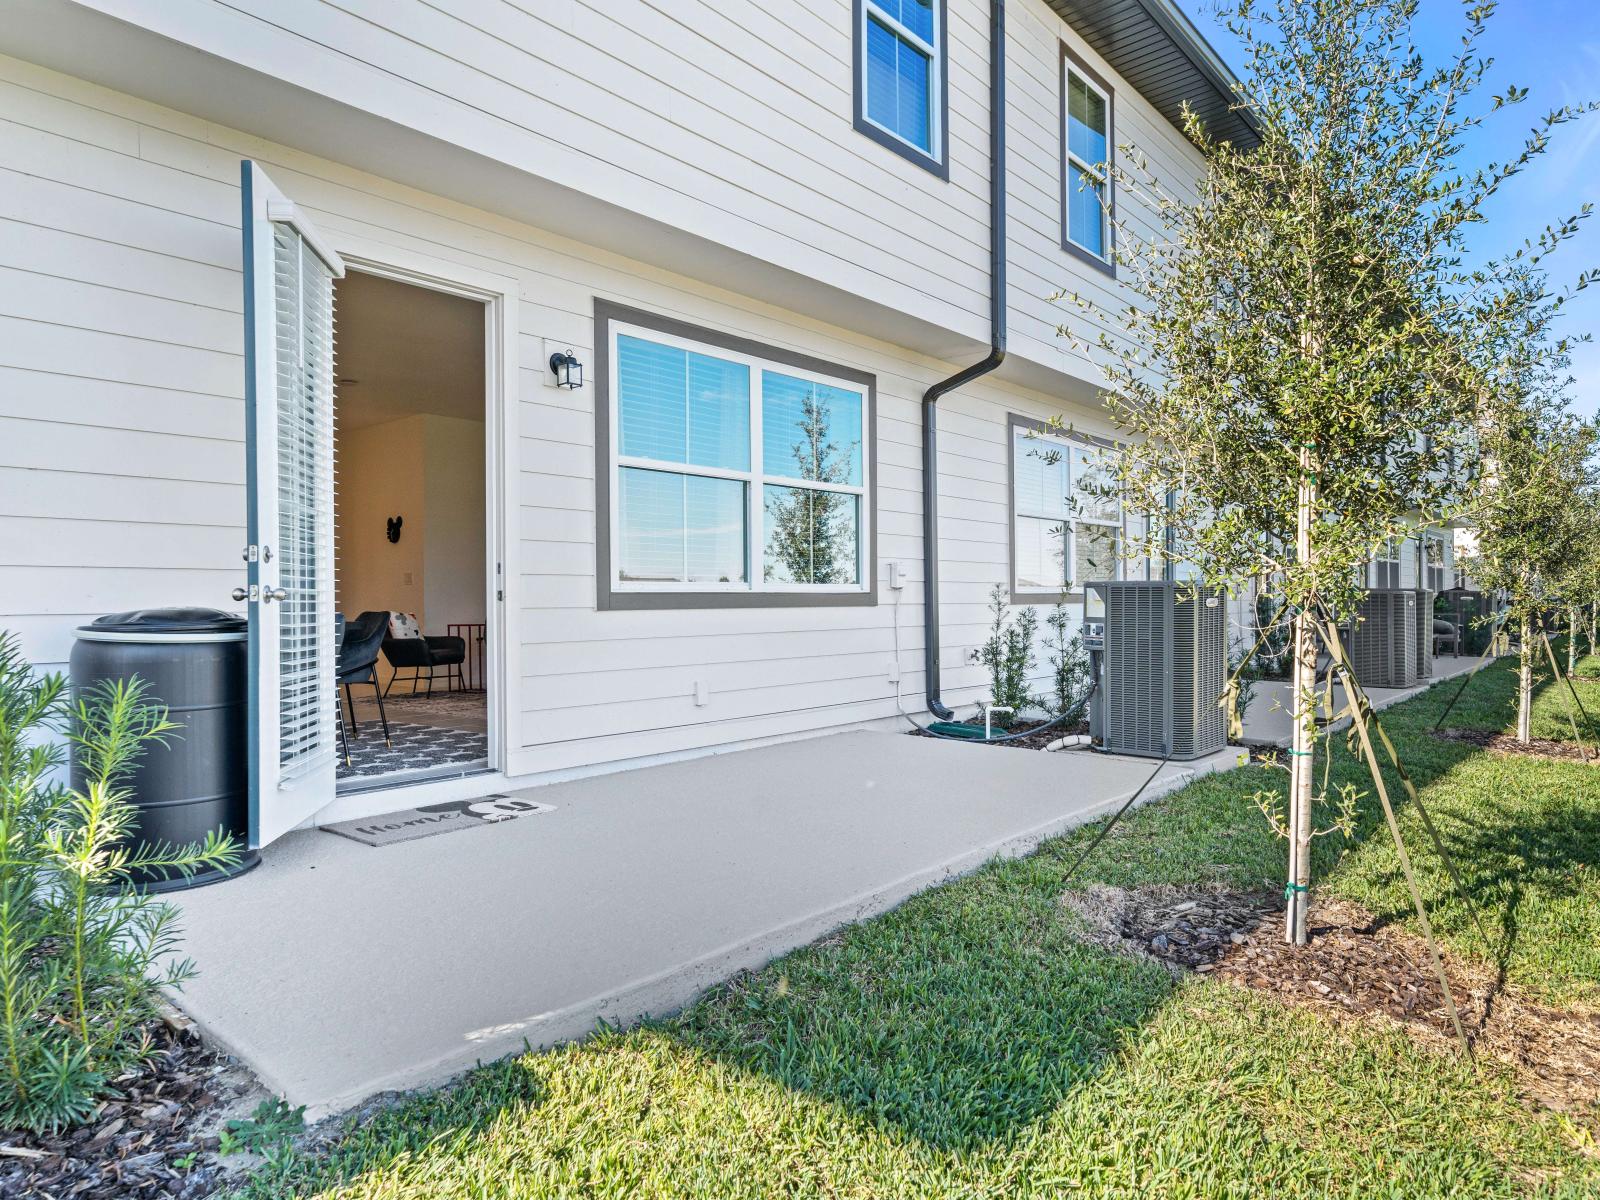
[[[227,1181],[216,1133],[251,1085],[192,1030],[155,1024],[150,1037],[150,1062],[115,1080],[91,1123],[43,1136],[0,1130],[0,1197],[195,1200]]]

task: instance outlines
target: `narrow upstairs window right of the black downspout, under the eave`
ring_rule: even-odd
[[[1094,72],[1061,51],[1062,243],[1110,269],[1112,93]]]

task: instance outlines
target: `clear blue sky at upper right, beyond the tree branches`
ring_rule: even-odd
[[[1178,0],[1218,53],[1238,67],[1242,54],[1216,21],[1214,0]],[[1416,38],[1426,61],[1446,61],[1461,45],[1466,22],[1459,0],[1421,0]],[[1466,160],[1502,162],[1517,154],[1533,123],[1549,109],[1600,99],[1600,3],[1597,0],[1502,0],[1490,19],[1480,51],[1494,59],[1491,93],[1515,83],[1528,99],[1494,114],[1475,131]],[[1555,131],[1550,149],[1494,197],[1488,221],[1470,230],[1474,253],[1493,258],[1523,237],[1576,213],[1586,202],[1600,210],[1600,112]],[[1584,230],[1547,259],[1552,283],[1600,266],[1600,211]],[[1600,338],[1600,286],[1581,293],[1563,315],[1563,333]],[[1600,411],[1600,342],[1573,350],[1571,395],[1578,411]]]

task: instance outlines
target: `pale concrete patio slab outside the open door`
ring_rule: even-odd
[[[1237,755],[1170,765],[1146,795]],[[178,1000],[322,1115],[672,1013],[1106,813],[1154,768],[845,733],[552,784],[526,795],[554,813],[384,848],[304,830],[178,898],[200,968]]]

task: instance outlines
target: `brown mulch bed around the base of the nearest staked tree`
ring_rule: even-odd
[[[1427,942],[1358,904],[1317,898],[1310,944],[1283,941],[1283,902],[1222,888],[1069,891],[1062,906],[1088,941],[1165,965],[1270,992],[1285,1003],[1354,1019],[1398,1022],[1435,1045],[1454,1045]],[[1461,1024],[1477,1053],[1515,1067],[1523,1093],[1586,1118],[1600,1106],[1600,1013],[1523,1000],[1491,970],[1445,958]]]

